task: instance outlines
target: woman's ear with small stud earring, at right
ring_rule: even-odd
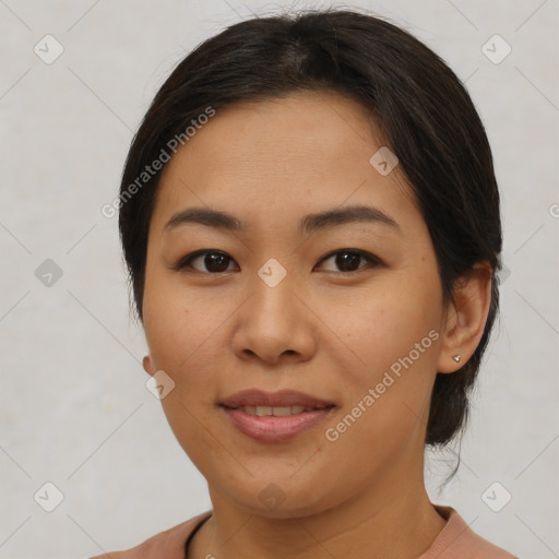
[[[491,274],[490,264],[483,261],[455,282],[454,302],[447,307],[438,372],[456,371],[476,350],[491,306]],[[460,361],[454,356],[460,356]]]

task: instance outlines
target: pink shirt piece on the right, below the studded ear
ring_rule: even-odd
[[[450,507],[436,507],[448,519],[429,550],[419,559],[518,559],[504,549],[478,536]]]

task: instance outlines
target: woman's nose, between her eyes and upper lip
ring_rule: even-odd
[[[270,365],[306,361],[316,352],[319,319],[297,293],[289,274],[275,286],[254,274],[248,300],[237,312],[233,349],[242,360]],[[299,289],[300,292],[300,289]]]

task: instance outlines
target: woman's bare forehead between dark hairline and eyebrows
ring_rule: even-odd
[[[383,176],[371,164],[380,147],[370,111],[335,93],[217,109],[167,163],[153,221],[163,228],[164,217],[188,205],[242,209],[249,221],[267,224],[309,206],[409,205],[397,167]]]

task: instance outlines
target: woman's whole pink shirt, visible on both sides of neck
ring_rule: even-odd
[[[454,509],[436,508],[447,519],[447,524],[431,547],[417,559],[519,559],[472,532]],[[99,555],[91,559],[186,559],[186,546],[211,515],[212,511],[203,512],[128,551]]]

